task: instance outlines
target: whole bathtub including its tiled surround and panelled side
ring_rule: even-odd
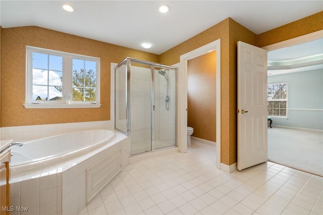
[[[129,164],[128,140],[117,131],[85,130],[21,141],[11,148],[11,205],[31,214],[78,214]]]

